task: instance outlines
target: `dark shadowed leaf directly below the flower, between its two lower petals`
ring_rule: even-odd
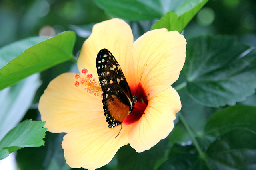
[[[161,140],[150,150],[142,153],[137,153],[129,145],[126,145],[118,150],[118,167],[122,170],[154,169],[158,164],[162,164],[160,162],[168,151],[167,145],[168,138]]]

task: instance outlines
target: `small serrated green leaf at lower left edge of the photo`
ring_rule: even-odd
[[[44,145],[42,138],[47,130],[42,128],[44,124],[45,122],[26,120],[10,130],[0,141],[0,160],[20,148]]]

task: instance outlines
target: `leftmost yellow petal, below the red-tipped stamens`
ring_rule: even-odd
[[[84,86],[74,86],[74,73],[61,74],[50,82],[39,100],[38,109],[44,127],[53,133],[75,131],[86,122],[98,119],[108,127],[102,98],[89,94]]]

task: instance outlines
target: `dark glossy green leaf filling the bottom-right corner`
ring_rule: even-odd
[[[254,117],[255,119],[255,117]],[[252,170],[256,167],[256,133],[230,131],[210,145],[207,161],[214,170]]]

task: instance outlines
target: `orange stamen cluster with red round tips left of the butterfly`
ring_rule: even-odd
[[[78,87],[79,84],[84,85],[84,86],[86,86],[84,88],[84,90],[86,90],[90,94],[94,94],[96,96],[102,97],[102,89],[101,89],[100,82],[95,81],[95,78],[92,78],[92,74],[86,74],[86,73],[88,73],[87,69],[85,69],[85,68],[82,69],[82,73],[84,73],[84,78],[82,78],[80,76],[80,74],[75,75],[75,79],[80,79],[80,82],[75,81],[74,85],[76,87]]]

